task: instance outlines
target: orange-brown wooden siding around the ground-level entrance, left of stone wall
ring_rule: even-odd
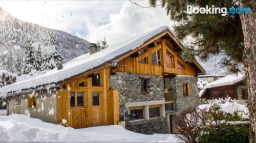
[[[66,85],[66,89],[57,91],[57,123],[73,128],[85,128],[94,126],[93,116],[100,118],[100,125],[117,124],[119,120],[119,99],[118,91],[109,90],[109,68],[100,72],[101,87],[92,87],[92,78],[84,74],[79,78],[73,78],[69,82],[60,84]],[[87,81],[87,87],[79,87],[78,84]],[[83,107],[70,106],[70,92],[83,92]],[[99,115],[93,114],[92,93],[100,93]],[[76,95],[76,94],[75,94]],[[76,96],[75,96],[75,99]],[[62,120],[67,120],[67,123]]]

